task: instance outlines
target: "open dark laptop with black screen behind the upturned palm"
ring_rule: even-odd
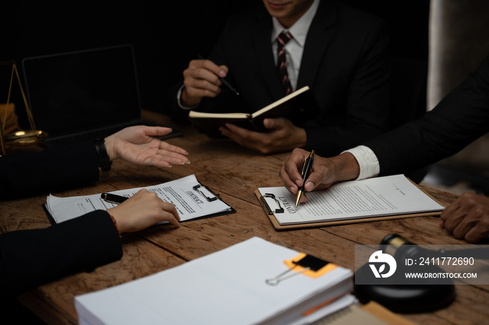
[[[48,133],[47,146],[154,125],[141,118],[131,45],[28,57],[22,70],[34,123]]]

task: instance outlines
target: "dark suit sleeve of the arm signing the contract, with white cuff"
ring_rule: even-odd
[[[400,174],[451,156],[489,132],[489,56],[421,119],[365,145],[379,159],[380,174]]]

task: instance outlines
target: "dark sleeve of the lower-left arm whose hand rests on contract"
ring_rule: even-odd
[[[46,229],[1,234],[0,298],[13,298],[121,257],[119,233],[109,214],[101,210]]]

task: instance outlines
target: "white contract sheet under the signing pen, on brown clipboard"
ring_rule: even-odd
[[[435,202],[404,175],[384,176],[360,181],[336,183],[327,190],[307,192],[307,202],[295,209],[295,195],[284,187],[258,188],[267,199],[280,225],[394,216],[407,213],[441,211],[444,206]]]

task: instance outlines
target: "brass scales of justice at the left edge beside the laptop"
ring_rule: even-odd
[[[3,116],[0,116],[0,156],[6,155],[6,145],[10,146],[28,146],[32,144],[38,144],[42,142],[45,137],[48,137],[48,133],[37,130],[36,125],[34,124],[34,119],[32,118],[31,109],[29,109],[29,103],[27,103],[27,97],[25,96],[24,89],[22,88],[22,83],[20,82],[19,72],[17,70],[17,65],[15,61],[2,62],[1,65],[4,66],[12,66],[12,74],[10,76],[10,86],[8,87],[8,98],[5,113]],[[15,130],[12,133],[4,134],[7,121],[11,121],[12,117],[15,115],[13,111],[12,114],[8,114],[9,112],[9,103],[10,103],[10,94],[12,92],[13,86],[13,78],[17,77],[17,82],[19,83],[20,92],[22,93],[22,99],[24,100],[25,109],[27,112],[27,118],[29,119],[29,124],[31,126],[31,130]]]

